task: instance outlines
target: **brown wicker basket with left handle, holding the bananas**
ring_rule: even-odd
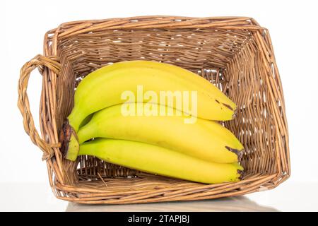
[[[58,134],[73,107],[76,85],[102,66],[138,59],[198,73],[237,104],[235,119],[224,126],[245,147],[240,182],[199,184],[95,157],[81,156],[77,162],[62,157]],[[26,93],[35,68],[42,74],[40,133]],[[25,131],[44,153],[52,191],[66,201],[150,203],[238,196],[273,189],[290,176],[281,80],[269,31],[253,18],[143,16],[63,23],[45,34],[44,55],[21,69],[18,92]]]

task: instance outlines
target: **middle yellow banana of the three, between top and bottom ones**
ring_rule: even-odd
[[[137,105],[131,104],[135,110]],[[160,116],[160,106],[154,104],[148,107],[157,109],[155,115],[124,116],[122,107],[114,105],[96,112],[88,124],[79,129],[78,142],[98,137],[139,141],[219,163],[237,162],[243,149],[240,141],[215,121],[196,119],[194,124],[186,124],[187,117],[182,116],[182,112],[178,114],[175,110],[171,116]],[[165,112],[168,108],[165,107]],[[70,145],[69,152],[76,152],[76,148]]]

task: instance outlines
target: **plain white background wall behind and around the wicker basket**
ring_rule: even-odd
[[[42,153],[23,130],[16,103],[20,67],[42,54],[47,30],[71,20],[114,17],[250,16],[268,28],[281,73],[290,133],[288,183],[318,182],[318,16],[316,1],[0,1],[0,182],[45,182]],[[41,76],[28,95],[38,125]],[[47,185],[48,186],[48,185]],[[283,186],[283,185],[282,185]]]

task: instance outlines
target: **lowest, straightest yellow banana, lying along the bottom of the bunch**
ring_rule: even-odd
[[[79,155],[93,155],[143,172],[206,184],[237,182],[243,169],[237,163],[206,162],[155,145],[106,138],[83,143]]]

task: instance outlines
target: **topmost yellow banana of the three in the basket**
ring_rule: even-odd
[[[202,119],[230,120],[235,113],[235,103],[216,86],[191,71],[153,61],[123,61],[93,71],[79,83],[74,107],[68,117],[69,124],[78,131],[89,114],[125,102],[122,99],[123,91],[129,90],[137,96],[139,85],[142,85],[143,92],[151,91],[157,97],[160,97],[160,91],[165,90],[171,93],[196,92],[196,106],[192,102],[189,102],[187,109],[176,103],[166,104]],[[194,108],[196,112],[189,110]]]

